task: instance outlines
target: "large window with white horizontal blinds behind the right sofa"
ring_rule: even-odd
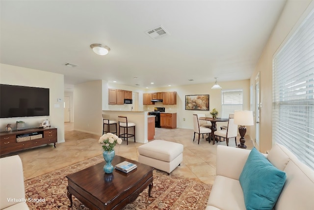
[[[314,13],[273,59],[273,141],[314,169]]]

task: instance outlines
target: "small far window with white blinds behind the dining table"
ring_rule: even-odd
[[[222,90],[221,104],[221,118],[229,118],[229,114],[234,114],[235,110],[243,110],[243,90]]]

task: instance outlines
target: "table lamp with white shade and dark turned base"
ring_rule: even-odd
[[[253,111],[238,111],[235,110],[235,124],[240,125],[239,127],[239,133],[240,133],[240,144],[237,145],[238,148],[246,149],[245,143],[245,133],[246,133],[246,127],[245,125],[254,125],[253,122]]]

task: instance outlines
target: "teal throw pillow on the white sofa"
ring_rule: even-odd
[[[239,178],[247,210],[271,210],[286,181],[286,173],[253,148]]]

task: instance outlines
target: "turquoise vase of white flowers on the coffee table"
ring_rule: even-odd
[[[114,169],[113,165],[111,164],[111,161],[113,160],[113,157],[115,155],[114,146],[116,146],[116,144],[121,145],[122,139],[112,133],[106,133],[102,137],[100,137],[98,142],[100,144],[103,144],[103,157],[106,162],[104,166],[104,172],[106,174],[110,174],[113,172]]]

